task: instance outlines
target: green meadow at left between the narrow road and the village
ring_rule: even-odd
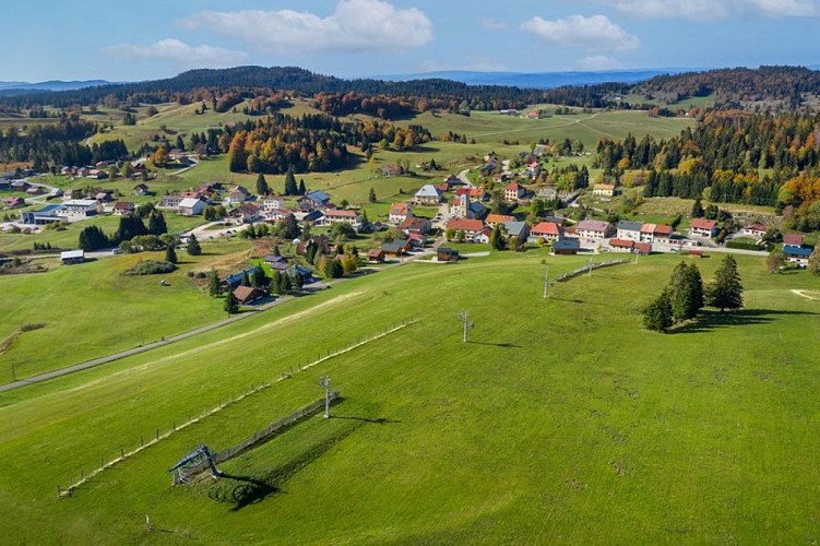
[[[192,330],[225,317],[222,300],[210,298],[186,276],[211,263],[247,257],[247,242],[205,242],[203,256],[179,252],[178,271],[159,277],[124,276],[120,272],[163,252],[121,254],[63,266],[57,259],[38,259],[47,273],[0,276],[0,341],[24,324],[45,323],[23,333],[0,354],[0,383],[64,368],[80,361],[135,347]]]

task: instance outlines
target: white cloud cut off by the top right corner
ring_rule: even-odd
[[[817,0],[607,0],[607,3],[635,17],[701,22],[733,15],[806,17],[818,14]]]

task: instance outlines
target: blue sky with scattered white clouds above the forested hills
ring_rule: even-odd
[[[820,0],[28,0],[0,80],[299,66],[338,76],[817,64]],[[134,4],[132,4],[134,5]]]

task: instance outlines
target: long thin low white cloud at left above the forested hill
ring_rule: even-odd
[[[214,46],[189,46],[176,38],[161,39],[154,44],[118,44],[104,49],[108,55],[130,59],[158,59],[186,67],[230,67],[248,58],[245,51],[231,51]]]

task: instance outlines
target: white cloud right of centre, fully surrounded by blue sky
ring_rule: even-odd
[[[577,46],[592,50],[626,51],[640,46],[640,40],[616,25],[606,15],[570,15],[547,21],[535,16],[521,24],[542,41],[556,46]]]

